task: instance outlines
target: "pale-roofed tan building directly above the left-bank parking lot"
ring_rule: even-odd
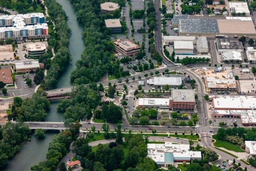
[[[38,60],[17,62],[14,65],[14,71],[16,71],[16,73],[32,73],[36,71],[37,68],[43,69],[43,67],[43,63],[39,64]]]

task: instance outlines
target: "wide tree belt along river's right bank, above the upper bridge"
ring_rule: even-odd
[[[71,0],[77,11],[78,22],[85,26],[82,34],[85,50],[71,74],[71,81],[75,84],[97,82],[106,71],[115,78],[127,76],[112,53],[114,44],[110,41],[111,31],[104,23],[107,14],[103,14],[100,7],[103,2],[105,1]],[[119,3],[120,7],[125,5],[124,0],[114,2]]]

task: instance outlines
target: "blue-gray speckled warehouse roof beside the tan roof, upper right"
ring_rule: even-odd
[[[179,32],[183,33],[218,33],[216,19],[179,19]]]

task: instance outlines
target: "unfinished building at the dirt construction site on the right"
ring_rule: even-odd
[[[237,91],[235,78],[216,79],[215,77],[206,77],[206,83],[211,92]]]

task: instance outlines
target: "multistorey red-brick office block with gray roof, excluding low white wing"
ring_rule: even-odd
[[[173,111],[194,111],[194,91],[192,89],[172,89],[169,104],[169,108]]]

